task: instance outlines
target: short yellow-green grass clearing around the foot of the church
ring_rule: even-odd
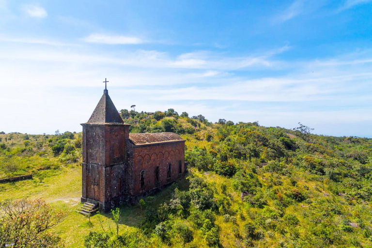
[[[146,204],[158,206],[171,199],[171,192],[175,187],[188,187],[186,179],[167,187],[154,196]],[[99,219],[106,231],[114,231],[115,224],[111,213],[101,213],[90,218],[75,212],[80,206],[81,197],[81,168],[65,168],[60,174],[43,179],[19,181],[0,185],[1,200],[15,200],[20,198],[43,198],[56,209],[68,212],[68,216],[52,231],[60,235],[65,241],[66,248],[83,248],[84,236],[90,231],[102,231]],[[144,211],[139,206],[121,206],[120,231],[138,227],[144,219]]]

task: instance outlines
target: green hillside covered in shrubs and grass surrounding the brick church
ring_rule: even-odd
[[[312,135],[304,125],[212,124],[172,109],[120,113],[131,132],[180,134],[190,165],[159,195],[123,206],[119,235],[111,214],[89,221],[74,212],[81,134],[1,143],[0,178],[34,179],[1,184],[0,199],[41,197],[68,211],[53,229],[66,247],[372,247],[371,139]]]

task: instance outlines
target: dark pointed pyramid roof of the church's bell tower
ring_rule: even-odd
[[[87,123],[124,123],[107,89],[103,91],[101,100],[99,100]]]

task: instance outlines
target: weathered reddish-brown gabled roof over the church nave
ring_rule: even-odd
[[[181,136],[175,133],[144,133],[144,134],[129,134],[129,140],[135,145],[151,144],[158,142],[169,142],[183,140]]]

